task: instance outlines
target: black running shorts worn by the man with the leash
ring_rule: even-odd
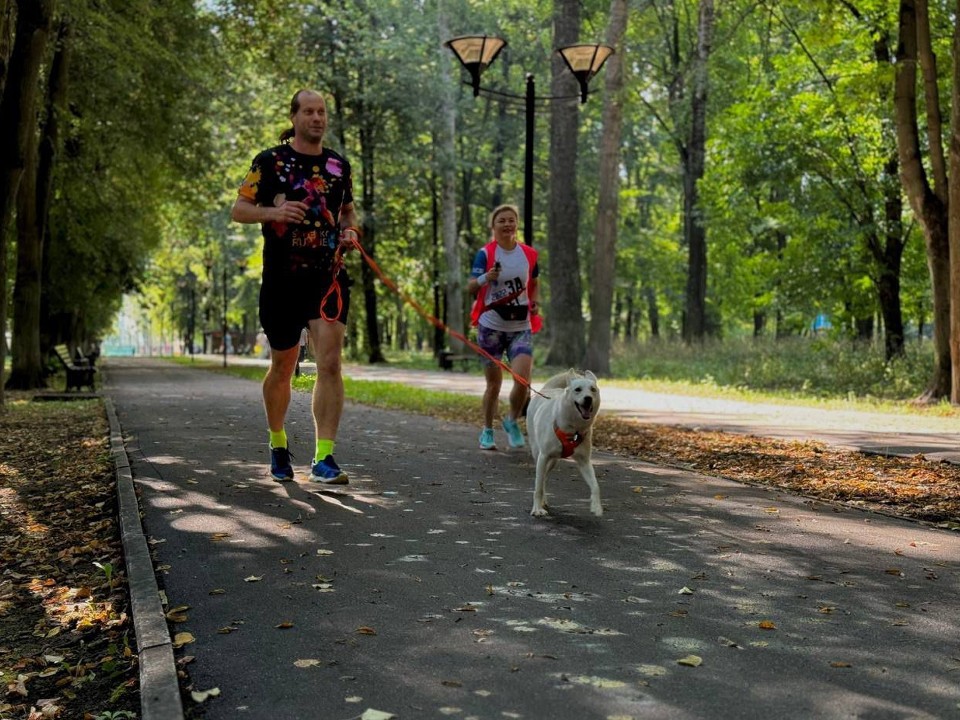
[[[270,341],[270,347],[289,350],[298,345],[300,331],[310,320],[321,315],[327,320],[338,320],[346,325],[350,309],[350,283],[343,269],[337,276],[337,287],[332,289],[329,273],[309,277],[264,278],[260,286],[260,325]]]

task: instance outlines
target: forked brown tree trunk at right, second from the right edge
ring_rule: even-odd
[[[926,0],[902,0],[897,45],[894,108],[900,181],[923,229],[927,266],[933,294],[933,375],[922,401],[951,395],[950,247],[947,218],[948,189],[940,141],[940,101],[936,85],[936,58],[930,46]],[[920,38],[924,42],[920,42]],[[917,62],[924,74],[927,136],[934,187],[930,186],[920,148],[917,122]]]

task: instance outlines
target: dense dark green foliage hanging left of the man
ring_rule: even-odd
[[[54,174],[47,332],[102,335],[142,280],[169,208],[209,157],[196,123],[211,94],[207,28],[191,0],[69,3],[69,113]],[[82,272],[78,272],[82,269]]]

